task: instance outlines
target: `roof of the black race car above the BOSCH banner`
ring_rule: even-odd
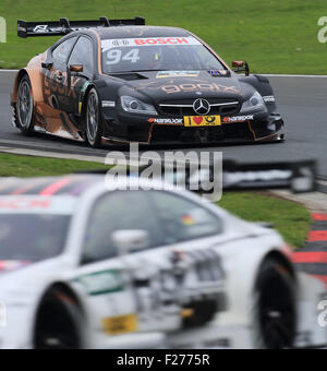
[[[138,38],[138,37],[185,37],[190,33],[178,27],[161,26],[118,26],[94,28],[101,39]]]

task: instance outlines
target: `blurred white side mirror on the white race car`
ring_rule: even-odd
[[[111,235],[112,242],[121,255],[149,247],[149,235],[146,230],[117,230]]]

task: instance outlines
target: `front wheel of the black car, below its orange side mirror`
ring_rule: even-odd
[[[84,121],[85,136],[88,145],[94,148],[99,148],[101,146],[104,125],[100,112],[100,99],[94,87],[87,95]]]

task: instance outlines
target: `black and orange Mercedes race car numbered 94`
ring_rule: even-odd
[[[284,140],[269,81],[243,61],[231,70],[185,29],[61,19],[19,21],[19,36],[64,36],[17,73],[12,106],[24,133],[94,147]]]

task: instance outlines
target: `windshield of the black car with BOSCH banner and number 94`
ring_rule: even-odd
[[[107,74],[143,71],[226,70],[194,37],[102,40]]]

